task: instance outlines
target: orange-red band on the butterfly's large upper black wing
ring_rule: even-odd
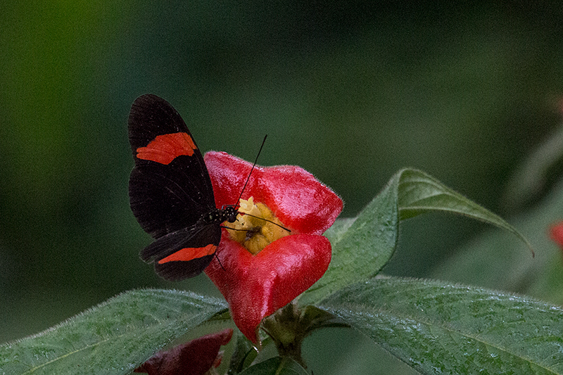
[[[137,158],[168,165],[179,155],[194,155],[196,144],[187,133],[156,136],[146,147],[137,148]]]

